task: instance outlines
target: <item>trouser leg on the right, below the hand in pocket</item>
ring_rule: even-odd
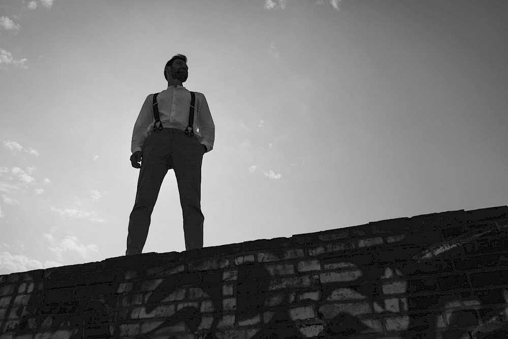
[[[205,220],[201,212],[203,148],[196,138],[189,138],[185,134],[178,136],[181,142],[179,151],[173,153],[173,166],[182,206],[185,250],[202,249]]]

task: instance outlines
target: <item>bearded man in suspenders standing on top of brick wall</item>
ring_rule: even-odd
[[[183,87],[187,76],[187,57],[173,56],[164,68],[168,88],[146,97],[134,125],[131,163],[141,170],[129,220],[126,256],[143,250],[162,181],[172,168],[180,193],[185,250],[203,248],[201,163],[204,153],[213,148],[215,125],[205,96]]]

